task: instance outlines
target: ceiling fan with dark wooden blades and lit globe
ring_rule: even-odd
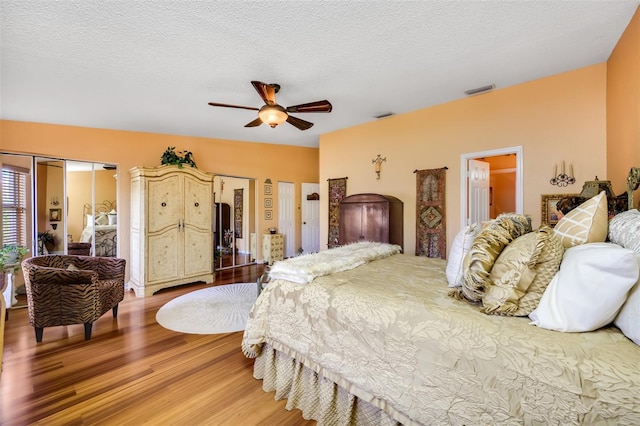
[[[264,105],[261,108],[220,104],[217,102],[209,102],[209,105],[258,111],[258,118],[250,123],[245,124],[244,127],[256,127],[261,125],[262,123],[267,123],[271,127],[276,127],[278,124],[282,124],[286,121],[287,123],[294,125],[300,130],[309,129],[311,126],[313,126],[313,123],[293,117],[289,115],[290,112],[331,112],[331,109],[333,108],[331,106],[331,103],[327,100],[309,102],[306,104],[294,105],[284,108],[276,103],[276,93],[280,91],[279,84],[267,84],[255,80],[252,81],[251,84],[264,101]]]

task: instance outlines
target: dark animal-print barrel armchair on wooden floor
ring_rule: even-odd
[[[29,323],[36,341],[44,327],[84,324],[84,338],[91,338],[93,322],[109,309],[118,316],[124,298],[126,261],[114,257],[47,255],[22,262]]]

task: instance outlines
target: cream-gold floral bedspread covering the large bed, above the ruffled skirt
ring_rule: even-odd
[[[640,424],[640,347],[559,333],[447,296],[445,261],[404,254],[270,282],[243,338],[268,343],[404,424]]]

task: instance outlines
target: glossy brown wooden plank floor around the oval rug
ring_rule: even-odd
[[[262,265],[221,271],[215,285],[255,282]],[[205,284],[147,298],[127,292],[117,320],[103,315],[90,341],[83,326],[45,328],[36,344],[26,309],[6,322],[0,424],[312,425],[262,390],[242,332],[182,334],[155,320],[158,309]]]

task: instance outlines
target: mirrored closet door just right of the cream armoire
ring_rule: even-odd
[[[255,179],[217,175],[213,185],[216,269],[255,262]]]

